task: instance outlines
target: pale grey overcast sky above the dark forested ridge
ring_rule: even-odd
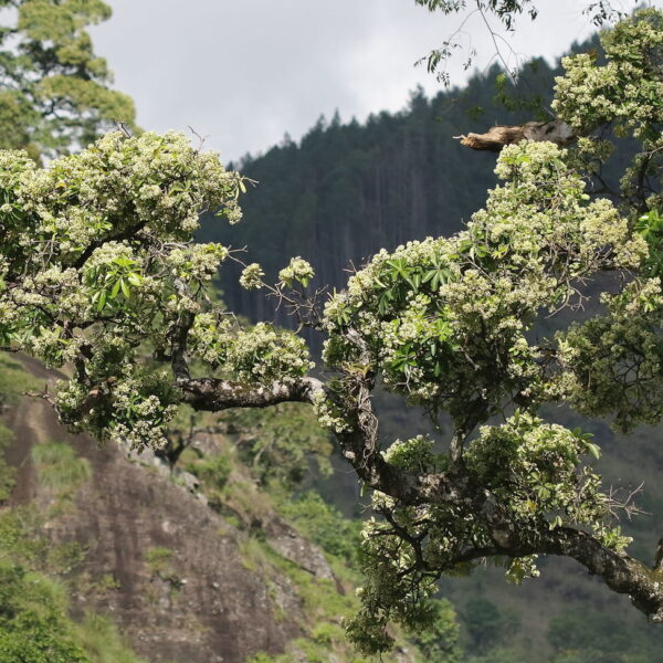
[[[417,85],[434,94],[441,84],[413,63],[461,22],[413,0],[106,1],[114,15],[93,39],[116,87],[134,97],[140,126],[190,125],[224,160],[264,151],[286,131],[298,139],[320,114],[362,120],[401,109]],[[511,48],[558,56],[591,32],[587,3],[540,0],[538,20],[520,19]],[[485,66],[494,48],[478,17],[463,39]],[[450,69],[459,84],[467,76],[461,61]]]

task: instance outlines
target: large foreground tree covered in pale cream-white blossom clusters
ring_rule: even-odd
[[[364,651],[390,645],[390,620],[430,624],[436,580],[485,559],[520,582],[538,575],[538,555],[570,557],[663,621],[661,556],[654,567],[631,557],[614,520],[633,505],[602,488],[590,435],[541,410],[566,403],[623,430],[663,414],[662,44],[663,14],[643,10],[603,35],[606,64],[567,59],[554,108],[582,138],[505,147],[503,183],[466,230],[381,251],[324,308],[302,259],[274,286],[245,265],[244,287],[269,288],[327,335],[325,378],[295,334],[243,326],[208,294],[241,254],[192,243],[199,214],[239,221],[245,187],[217,155],[177,134],[122,133],[48,169],[2,152],[0,343],[71,365],[41,396],[73,429],[136,446],[162,445],[180,403],[313,406],[372,491],[362,609],[348,624]],[[640,146],[617,191],[601,182],[607,126]],[[597,290],[603,311],[536,338],[537,320]],[[448,413],[448,446],[383,440],[379,382],[435,424]]]

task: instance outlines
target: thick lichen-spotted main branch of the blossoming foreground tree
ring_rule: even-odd
[[[220,411],[229,408],[266,408],[282,402],[314,403],[320,392],[334,398],[316,378],[292,382],[250,387],[231,380],[212,378],[178,380],[185,402],[196,410]],[[319,397],[319,396],[318,396]],[[419,474],[388,463],[379,451],[376,430],[368,425],[370,402],[364,401],[354,422],[336,434],[345,457],[359,478],[373,490],[381,491],[401,504],[455,504],[462,511],[475,513],[486,524],[494,546],[483,552],[509,557],[525,555],[560,555],[571,557],[618,593],[625,593],[633,604],[653,622],[663,622],[663,572],[650,569],[625,554],[601,545],[586,532],[568,527],[552,530],[523,527],[514,520],[490,492],[473,484],[462,466],[446,473]],[[349,412],[346,412],[349,414]],[[359,417],[364,414],[364,417]],[[478,550],[472,550],[474,558]]]

